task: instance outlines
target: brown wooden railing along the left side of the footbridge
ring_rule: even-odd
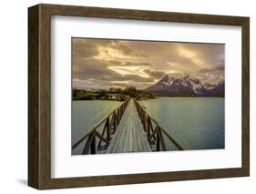
[[[117,107],[116,109],[111,111],[108,114],[108,116],[104,117],[101,121],[99,121],[95,127],[86,131],[82,136],[77,138],[77,140],[72,145],[72,149],[77,148],[77,146],[86,138],[88,138],[88,139],[87,139],[87,143],[83,149],[83,154],[88,154],[88,151],[90,150],[91,146],[93,146],[93,147],[96,146],[96,142],[95,142],[96,137],[100,139],[97,148],[100,147],[100,144],[102,141],[104,141],[108,145],[109,141],[110,141],[111,129],[113,129],[115,132],[117,125],[120,122],[120,119],[121,119],[126,107],[128,106],[129,100],[130,100],[130,98],[128,98],[125,102],[123,102],[119,107]],[[110,117],[111,117],[111,121],[109,121]],[[105,126],[103,128],[102,134],[100,134],[97,131],[97,128],[99,128],[104,122],[105,122]],[[107,130],[107,138],[104,138],[106,130]],[[93,151],[91,151],[92,154],[95,154],[96,148],[91,148],[91,149],[93,150]]]

